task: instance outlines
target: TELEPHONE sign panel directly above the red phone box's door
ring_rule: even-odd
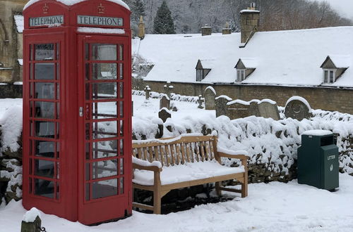
[[[97,26],[122,26],[123,18],[77,15],[77,24]]]

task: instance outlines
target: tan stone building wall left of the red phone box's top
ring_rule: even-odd
[[[23,6],[27,2],[27,0],[0,0],[0,82],[22,80],[18,65],[18,58],[22,58],[22,54],[18,57],[22,38],[18,37],[13,15],[22,14]]]

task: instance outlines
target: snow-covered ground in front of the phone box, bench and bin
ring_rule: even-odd
[[[229,193],[227,193],[229,194]],[[133,211],[128,219],[83,226],[78,222],[42,213],[42,226],[62,231],[340,231],[353,228],[353,177],[340,174],[335,193],[289,183],[253,183],[247,198],[200,205],[167,215]],[[20,231],[25,214],[21,202],[0,207],[0,231]]]

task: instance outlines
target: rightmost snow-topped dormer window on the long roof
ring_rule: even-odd
[[[321,67],[323,68],[323,84],[333,84],[347,70],[350,56],[328,56]]]

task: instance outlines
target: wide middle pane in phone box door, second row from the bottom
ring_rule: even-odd
[[[118,160],[105,160],[92,163],[92,179],[99,179],[118,174]]]

